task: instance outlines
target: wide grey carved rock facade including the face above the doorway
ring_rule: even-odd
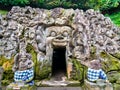
[[[120,29],[93,9],[16,6],[0,17],[0,55],[7,58],[17,53],[22,38],[26,39],[26,45],[30,43],[34,47],[38,61],[49,63],[54,47],[66,47],[66,59],[75,57],[80,61],[90,58],[92,46],[98,57],[102,51],[115,54],[120,50]]]

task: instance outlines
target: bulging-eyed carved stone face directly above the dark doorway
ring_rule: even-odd
[[[68,26],[51,26],[46,29],[47,39],[51,39],[53,47],[66,47],[72,29]]]

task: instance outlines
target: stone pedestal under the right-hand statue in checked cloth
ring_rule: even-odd
[[[105,85],[101,86],[97,83],[89,82],[88,80],[85,80],[85,90],[113,90],[111,83],[106,83]]]

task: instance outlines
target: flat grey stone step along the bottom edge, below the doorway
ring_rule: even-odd
[[[38,87],[37,90],[82,90],[81,87]]]

